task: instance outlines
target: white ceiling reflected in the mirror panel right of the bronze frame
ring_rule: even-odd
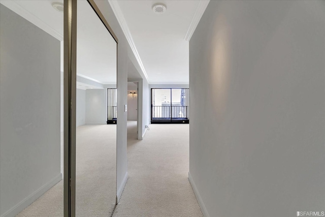
[[[77,74],[115,84],[117,44],[86,1],[77,4]]]

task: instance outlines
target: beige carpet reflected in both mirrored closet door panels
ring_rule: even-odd
[[[78,127],[76,139],[76,216],[111,216],[116,200],[116,125]],[[63,216],[63,180],[17,216]]]

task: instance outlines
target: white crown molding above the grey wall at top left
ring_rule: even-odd
[[[20,6],[18,3],[14,1],[1,1],[1,4],[15,12],[16,14],[22,16],[32,24],[36,25],[37,27],[44,30],[46,33],[50,34],[54,38],[58,39],[59,41],[63,41],[63,35],[57,32],[54,28],[43,22],[40,18],[35,16],[34,14],[27,11],[25,8]]]

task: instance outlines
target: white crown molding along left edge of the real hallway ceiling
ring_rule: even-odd
[[[124,15],[122,13],[122,10],[121,10],[120,6],[118,5],[116,0],[108,0],[108,2],[109,2],[110,6],[111,6],[111,8],[112,8],[112,10],[113,10],[113,12],[115,14],[115,17],[116,17],[118,23],[120,24],[120,26],[122,28],[122,31],[123,31],[123,33],[125,35],[125,38],[126,38],[128,44],[131,46],[131,49],[132,49],[132,51],[133,51],[133,53],[134,53],[134,55],[135,55],[135,57],[136,57],[136,59],[138,61],[138,64],[139,64],[139,66],[140,66],[140,68],[142,70],[142,73],[143,73],[144,77],[149,82],[148,75],[147,75],[146,70],[145,70],[145,68],[144,68],[144,66],[142,64],[142,60],[141,60],[140,55],[138,53],[137,47],[136,47],[136,45],[135,45],[135,43],[133,41],[131,32],[130,32],[128,26],[127,26],[127,23],[125,21],[125,18],[124,18]]]

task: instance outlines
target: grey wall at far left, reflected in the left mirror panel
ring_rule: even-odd
[[[62,177],[60,42],[0,5],[0,215]]]

